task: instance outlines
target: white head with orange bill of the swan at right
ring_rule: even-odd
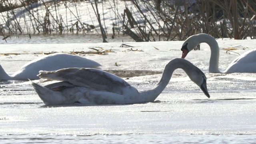
[[[200,41],[198,40],[198,35],[190,36],[188,39],[185,40],[185,42],[182,44],[182,48],[180,49],[182,51],[182,57],[185,58],[191,50],[193,50],[198,44],[200,44]]]

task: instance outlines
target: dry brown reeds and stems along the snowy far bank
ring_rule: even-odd
[[[29,5],[38,2],[38,0],[1,0],[0,12],[10,11],[18,7],[24,7],[30,12],[30,19],[24,17],[24,21],[27,23],[32,21],[32,23],[24,28],[19,24],[20,18],[16,18],[14,12],[10,11],[11,16],[8,15],[7,18],[4,18],[6,23],[12,21],[7,25],[9,33],[26,32],[30,34],[42,32],[50,34],[52,32],[62,33],[77,30],[85,34],[88,30],[94,29],[93,24],[86,24],[80,20],[78,12],[80,0],[70,1],[74,2],[76,12],[70,10],[66,5],[66,0],[54,0],[52,4],[46,4],[42,1],[44,8],[46,8],[45,14],[34,13],[33,10],[30,10]],[[18,5],[18,2],[21,5]],[[95,14],[99,18],[100,14],[98,14],[96,4],[98,1],[95,0],[94,2],[96,6]],[[215,38],[256,38],[254,22],[256,2],[253,0],[197,0],[194,4],[188,4],[185,0],[177,0],[175,3],[169,0],[129,0],[134,7],[129,8],[126,5],[123,13],[118,12],[118,7],[115,5],[116,0],[106,0],[104,2],[113,4],[112,11],[115,12],[116,20],[122,22],[122,27],[117,24],[118,22],[113,22],[113,36],[115,33],[120,34],[121,30],[136,42],[185,40],[188,36],[198,33],[207,33]],[[126,3],[125,0],[124,2]],[[68,28],[68,22],[65,22],[59,14],[58,6],[60,4],[64,4],[66,13],[70,13],[76,18],[76,22],[70,28]],[[48,10],[50,5],[54,5],[54,14]],[[135,15],[135,10],[139,14]],[[146,15],[143,10],[150,11]],[[42,18],[43,20],[41,20]],[[138,23],[138,20],[143,20],[143,23]],[[154,22],[154,26],[152,22]],[[105,22],[102,22],[102,24],[100,22],[102,35],[104,25]],[[0,25],[1,33],[4,34],[2,25]],[[104,39],[104,37],[102,38]]]

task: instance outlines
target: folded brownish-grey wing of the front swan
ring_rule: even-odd
[[[125,80],[102,70],[94,68],[64,68],[56,71],[40,71],[40,78],[69,82],[75,86],[83,86],[94,90],[121,93],[130,86]]]

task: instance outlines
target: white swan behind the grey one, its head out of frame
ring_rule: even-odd
[[[59,70],[61,68],[97,68],[101,66],[98,62],[82,58],[73,54],[56,53],[36,58],[22,66],[20,70],[12,75],[6,74],[0,65],[0,80],[36,80],[39,79],[40,70]]]

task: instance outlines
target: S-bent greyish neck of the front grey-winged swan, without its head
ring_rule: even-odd
[[[170,79],[172,77],[172,73],[177,68],[183,69],[185,72],[188,71],[188,62],[187,61],[178,61],[178,60],[172,60],[170,61],[164,68],[164,72],[162,74],[162,78],[159,81],[158,85],[152,89],[141,92],[141,95],[144,97],[146,102],[153,102],[159,94],[164,90],[164,88],[167,86],[167,84],[170,82]]]

